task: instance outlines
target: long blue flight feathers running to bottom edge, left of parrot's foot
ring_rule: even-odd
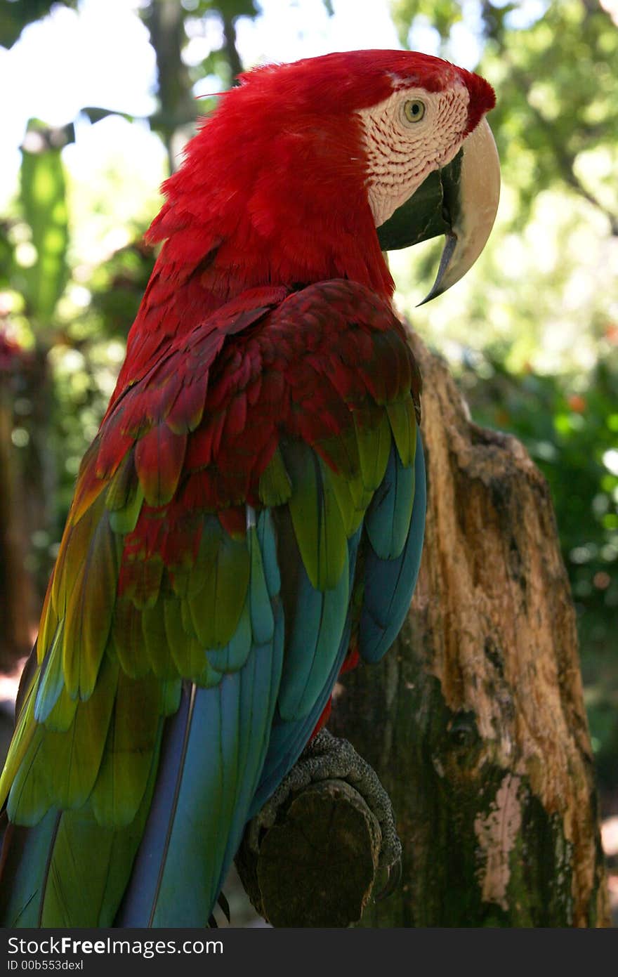
[[[250,610],[239,622],[240,629],[250,620],[254,639],[257,631],[268,640],[254,640],[242,667],[219,685],[184,683],[181,708],[168,720],[144,840],[116,925],[206,925],[240,844],[281,679],[284,627],[271,565],[273,536],[269,514],[263,514],[250,538],[258,551],[251,560]],[[233,641],[209,657],[227,656],[229,663]]]

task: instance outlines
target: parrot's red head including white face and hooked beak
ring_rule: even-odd
[[[151,239],[211,255],[228,292],[343,276],[390,297],[382,252],[437,234],[428,298],[471,268],[500,188],[483,78],[415,52],[353,51],[239,82],[165,184]]]

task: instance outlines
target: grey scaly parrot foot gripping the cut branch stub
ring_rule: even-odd
[[[378,822],[382,835],[378,869],[387,871],[388,880],[374,898],[386,898],[401,875],[401,842],[395,828],[391,798],[375,770],[359,756],[351,743],[340,740],[328,730],[320,730],[309,743],[260,813],[247,826],[250,849],[258,854],[263,832],[273,827],[279,811],[292,795],[322,781],[346,781],[360,794]]]

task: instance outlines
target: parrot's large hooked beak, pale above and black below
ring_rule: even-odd
[[[424,299],[429,302],[473,267],[493,227],[499,199],[498,150],[483,118],[455,158],[434,170],[378,228],[380,246],[390,251],[446,235],[437,276]]]

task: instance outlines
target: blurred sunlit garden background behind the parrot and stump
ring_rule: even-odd
[[[5,727],[154,260],[161,181],[242,68],[375,47],[496,89],[504,190],[474,271],[416,309],[439,244],[391,269],[474,420],[520,438],[552,489],[618,902],[618,0],[0,0]]]

